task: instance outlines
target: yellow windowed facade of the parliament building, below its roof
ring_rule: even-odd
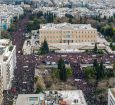
[[[47,40],[48,43],[64,43],[64,40],[73,41],[71,43],[96,42],[97,30],[39,30],[40,43]],[[71,34],[70,38],[67,35]]]

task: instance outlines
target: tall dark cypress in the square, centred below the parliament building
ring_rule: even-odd
[[[60,80],[65,82],[67,80],[67,70],[65,68],[65,63],[62,58],[60,58],[58,61],[58,69]]]

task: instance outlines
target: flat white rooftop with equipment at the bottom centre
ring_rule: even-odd
[[[87,105],[81,90],[45,91],[45,94],[20,94],[16,105]]]

